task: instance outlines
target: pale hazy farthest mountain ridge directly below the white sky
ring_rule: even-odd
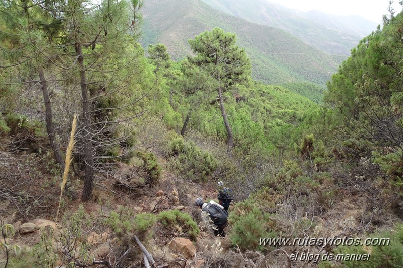
[[[358,42],[376,29],[358,16],[299,12],[266,0],[202,0],[214,9],[244,20],[283,29],[329,54],[350,55]]]

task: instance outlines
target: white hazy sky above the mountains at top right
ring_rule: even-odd
[[[287,8],[301,11],[320,10],[326,14],[359,15],[374,22],[381,23],[382,15],[387,13],[389,0],[268,0]],[[401,11],[398,0],[393,7]]]

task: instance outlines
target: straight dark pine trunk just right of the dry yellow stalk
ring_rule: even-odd
[[[85,76],[83,49],[80,43],[76,43],[77,62],[80,65],[80,87],[81,87],[81,106],[83,111],[83,150],[85,159],[85,178],[82,201],[88,201],[92,195],[94,185],[94,157],[92,155],[92,129],[91,129],[91,113],[90,101],[88,96],[87,79]]]

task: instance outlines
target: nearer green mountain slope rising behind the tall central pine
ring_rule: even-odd
[[[333,57],[283,30],[213,9],[200,0],[147,0],[140,43],[163,43],[174,59],[191,54],[189,39],[220,27],[237,35],[252,61],[253,77],[272,84],[306,81],[324,86],[343,58]],[[352,45],[353,47],[354,45]]]

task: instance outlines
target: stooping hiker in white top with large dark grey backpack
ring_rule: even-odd
[[[201,217],[207,229],[215,236],[225,237],[225,228],[228,225],[228,213],[224,207],[214,200],[206,203],[202,198],[197,198],[195,204],[202,209]]]

